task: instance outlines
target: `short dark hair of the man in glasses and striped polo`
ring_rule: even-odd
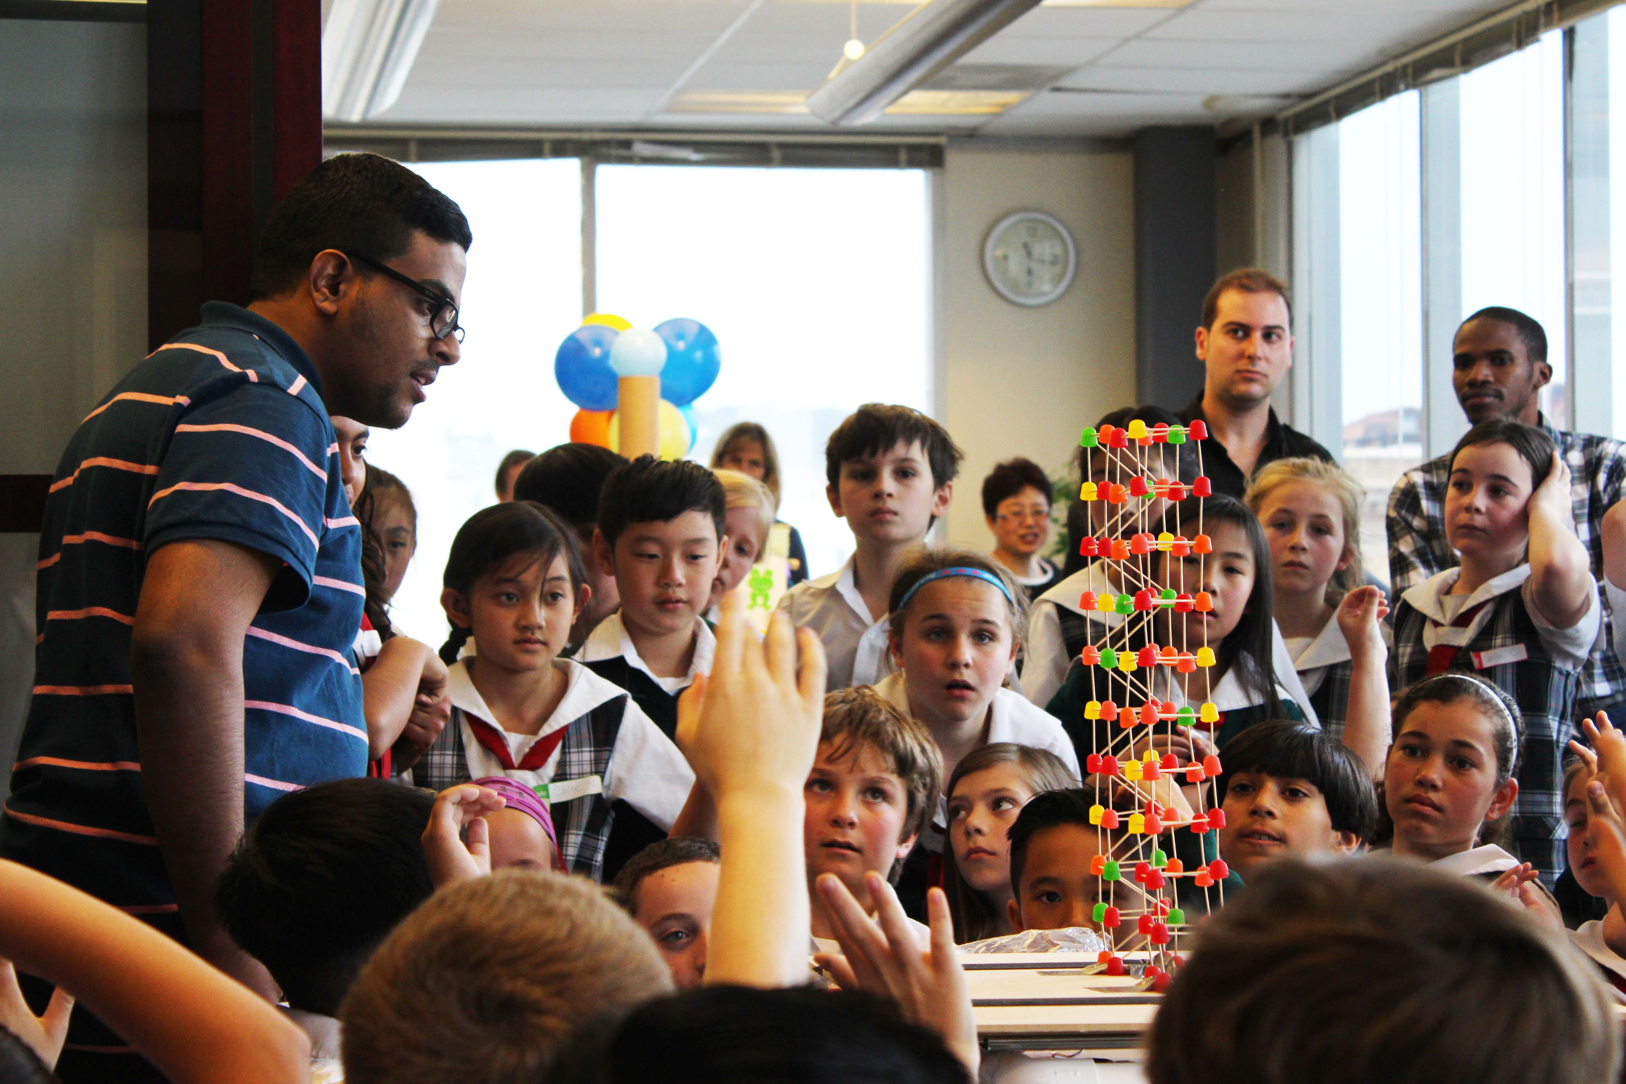
[[[380,154],[335,154],[288,190],[254,250],[249,301],[281,297],[325,249],[389,263],[415,232],[467,250],[463,211],[421,176]],[[372,275],[356,265],[361,275]]]

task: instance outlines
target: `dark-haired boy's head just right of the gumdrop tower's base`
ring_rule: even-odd
[[[1224,749],[1220,856],[1247,876],[1281,855],[1351,855],[1377,830],[1372,772],[1315,726],[1249,726]]]

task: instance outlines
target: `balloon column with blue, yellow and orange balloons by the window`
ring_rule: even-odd
[[[717,336],[699,320],[667,320],[650,332],[603,312],[571,332],[553,358],[559,390],[580,408],[571,440],[663,460],[694,445],[689,405],[720,369]]]

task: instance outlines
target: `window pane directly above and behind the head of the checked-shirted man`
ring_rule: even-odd
[[[1462,315],[1507,306],[1546,330],[1541,410],[1564,429],[1564,37],[1462,76]]]

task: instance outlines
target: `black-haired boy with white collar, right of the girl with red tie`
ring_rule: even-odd
[[[621,609],[593,629],[579,660],[626,689],[670,738],[678,694],[711,673],[717,640],[701,619],[722,564],[727,501],[699,463],[641,455],[598,496],[593,559]]]

